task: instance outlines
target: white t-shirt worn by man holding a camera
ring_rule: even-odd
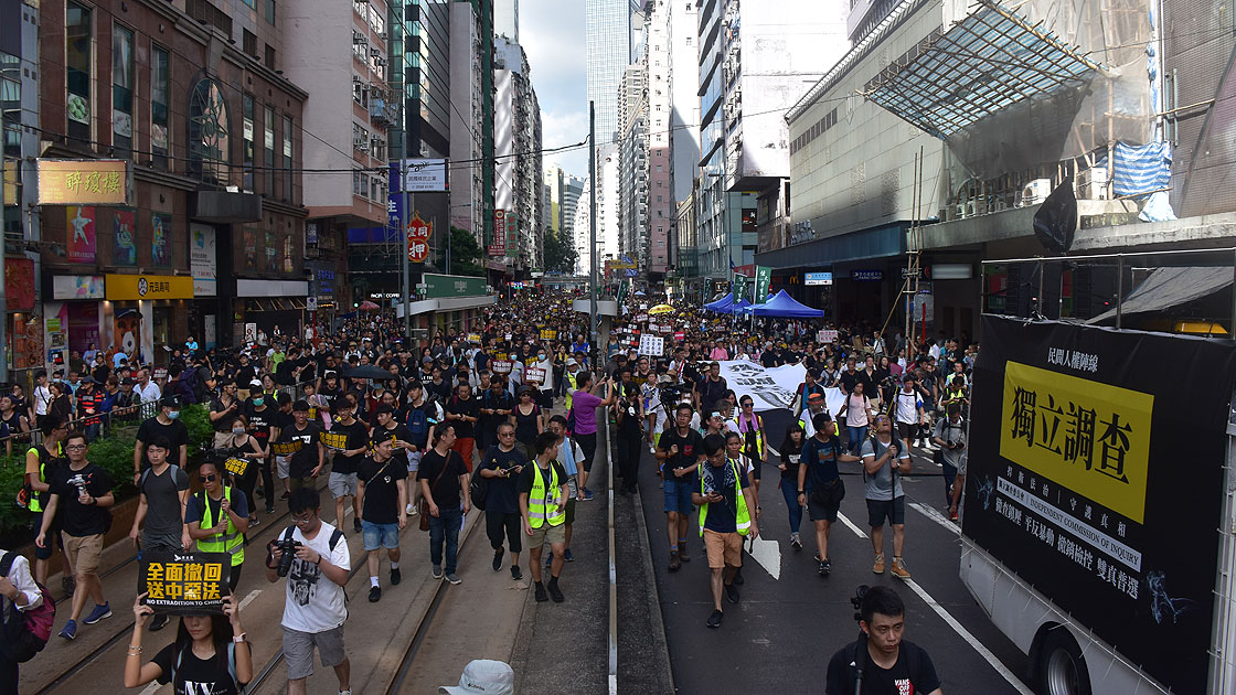
[[[347,539],[340,538],[335,549],[330,549],[330,537],[335,533],[335,527],[321,522],[318,535],[313,540],[305,539],[298,527],[292,532],[293,540],[313,548],[323,556],[323,563],[351,570],[352,564],[347,554]],[[282,538],[282,533],[279,534]],[[347,620],[347,603],[344,587],[326,579],[321,574],[321,568],[302,559],[292,560],[292,569],[288,570],[287,601],[283,603],[283,627],[298,632],[326,632],[334,629]]]

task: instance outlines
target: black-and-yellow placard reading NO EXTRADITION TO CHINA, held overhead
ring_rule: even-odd
[[[141,554],[137,592],[157,613],[221,613],[231,555],[226,553]]]

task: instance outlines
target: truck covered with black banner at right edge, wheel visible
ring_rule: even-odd
[[[1226,258],[1219,276],[1227,282],[1214,282],[1210,301],[1236,313],[1230,251]],[[1130,328],[1195,325],[1170,319],[1198,313],[1196,297],[1184,308],[1151,302],[1141,315],[1126,303],[1122,322],[1119,304],[1178,276],[1184,289],[1156,289],[1158,304],[1170,303],[1162,297],[1188,296],[1204,273],[1128,272],[1112,282],[1132,292],[1099,292],[1091,317],[986,313],[993,303],[984,302],[959,574],[1028,657],[1026,679],[1038,693],[1232,694],[1232,324],[1208,323],[1221,338]],[[1044,305],[1042,277],[1039,266],[1032,308]],[[1112,310],[1125,325],[1104,325]]]

